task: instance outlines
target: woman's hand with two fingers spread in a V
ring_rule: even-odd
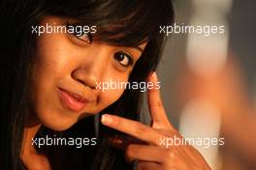
[[[152,73],[149,81],[158,81]],[[122,131],[148,143],[129,144],[125,151],[128,160],[137,160],[137,170],[209,170],[208,163],[190,145],[171,145],[174,138],[182,136],[169,122],[160,98],[159,89],[148,89],[147,102],[151,115],[151,126],[114,115],[102,116],[105,126]]]

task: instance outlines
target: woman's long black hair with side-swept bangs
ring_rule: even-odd
[[[37,61],[36,35],[31,26],[48,16],[74,18],[84,25],[97,25],[99,40],[113,45],[135,46],[144,41],[144,53],[129,81],[142,82],[160,60],[164,36],[160,25],[174,20],[171,0],[1,0],[0,66],[0,169],[23,169],[21,151],[25,115],[29,112],[31,71]],[[120,99],[102,113],[139,120],[142,93],[126,89]],[[89,129],[89,131],[88,131]],[[55,133],[42,128],[38,135]],[[94,117],[62,131],[66,136],[95,136]],[[131,169],[122,151],[114,149],[108,136],[123,135],[99,126],[97,147],[46,149],[52,169]]]

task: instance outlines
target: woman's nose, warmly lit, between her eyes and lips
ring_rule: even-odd
[[[72,71],[72,77],[84,86],[95,89],[108,72],[112,54],[108,48],[91,48],[90,51],[83,54],[78,67]]]

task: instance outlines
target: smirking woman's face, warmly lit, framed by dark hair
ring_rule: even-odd
[[[66,25],[69,21],[48,16],[41,24]],[[86,35],[69,33],[45,33],[37,42],[32,104],[37,120],[55,130],[70,128],[119,99],[124,89],[102,91],[99,84],[127,82],[145,47],[145,43],[124,47],[88,42]]]

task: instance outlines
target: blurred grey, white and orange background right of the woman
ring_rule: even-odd
[[[157,73],[170,121],[213,170],[256,169],[256,1],[176,0],[176,24],[224,25],[224,34],[169,36]]]

